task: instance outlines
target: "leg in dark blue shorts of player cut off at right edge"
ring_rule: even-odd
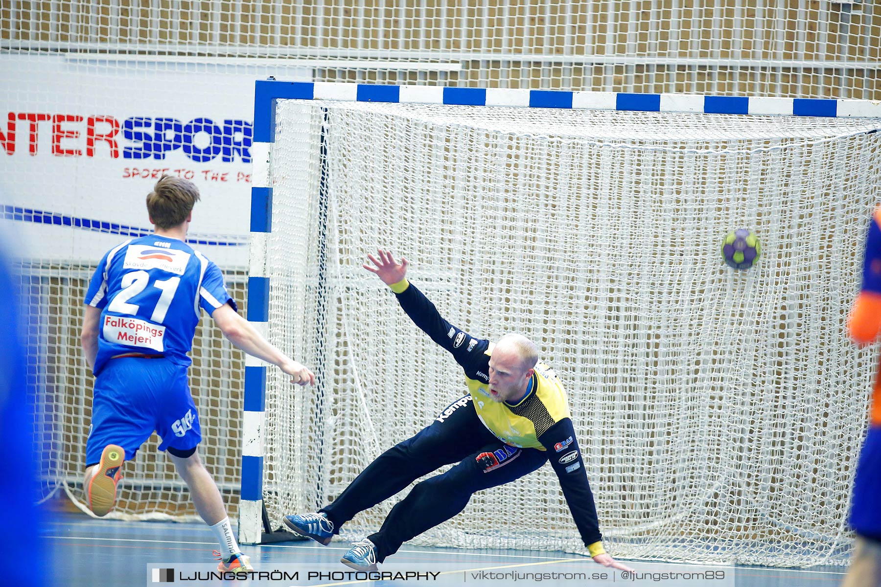
[[[881,427],[872,426],[856,465],[850,525],[857,533],[846,587],[881,585]]]

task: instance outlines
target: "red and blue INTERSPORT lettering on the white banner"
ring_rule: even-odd
[[[250,163],[254,125],[249,121],[215,121],[204,116],[189,122],[164,116],[130,116],[120,121],[107,114],[11,112],[6,128],[0,126],[0,144],[7,155],[15,154],[17,133],[27,137],[31,155],[36,155],[41,146],[51,149],[58,157],[85,154],[85,157],[109,155],[114,159],[120,158],[121,152],[123,159],[164,159],[167,153],[181,150],[196,163],[218,157],[226,163],[233,163],[236,158],[241,163]]]

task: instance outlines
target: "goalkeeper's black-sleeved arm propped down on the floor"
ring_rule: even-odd
[[[575,438],[572,420],[563,418],[555,423],[538,437],[538,442],[551,457],[551,466],[554,473],[557,473],[563,496],[590,556],[605,567],[633,570],[615,561],[603,548],[603,534],[600,533],[599,520],[596,517],[594,495],[590,491],[588,473],[584,468],[584,460],[581,459],[581,449],[578,447],[578,439]]]

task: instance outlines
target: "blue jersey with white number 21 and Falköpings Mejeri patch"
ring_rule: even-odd
[[[108,251],[85,303],[101,309],[95,375],[112,356],[131,352],[189,366],[199,307],[237,309],[217,265],[183,241],[155,234]]]

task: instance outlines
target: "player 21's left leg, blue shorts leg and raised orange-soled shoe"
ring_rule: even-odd
[[[113,509],[123,462],[153,433],[151,378],[144,377],[150,369],[144,359],[113,359],[95,379],[83,488],[96,516]]]

